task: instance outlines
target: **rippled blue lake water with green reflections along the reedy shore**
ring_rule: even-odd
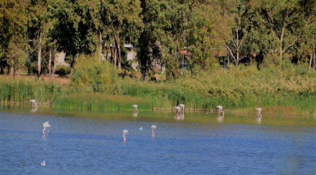
[[[43,136],[46,121],[51,127]],[[125,143],[123,129],[128,130]],[[262,118],[223,118],[203,112],[135,116],[1,106],[0,174],[315,175],[316,121],[264,111]]]

